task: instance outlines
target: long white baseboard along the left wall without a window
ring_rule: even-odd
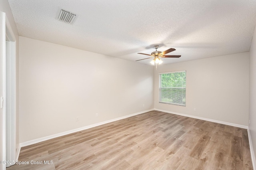
[[[27,142],[20,143],[19,146],[21,148],[23,146],[28,146],[28,145],[31,145],[31,144],[36,144],[36,143],[39,143],[39,142],[43,142],[45,140],[57,138],[57,137],[64,136],[64,135],[67,135],[67,134],[70,134],[70,133],[74,133],[74,132],[79,132],[81,130],[85,130],[85,129],[92,128],[92,127],[97,127],[97,126],[100,126],[100,125],[104,125],[106,123],[111,123],[111,122],[114,122],[114,121],[118,121],[118,120],[121,120],[121,119],[132,117],[132,116],[135,116],[135,115],[140,115],[142,113],[146,113],[146,112],[153,111],[153,110],[154,109],[149,109],[149,110],[138,112],[138,113],[134,113],[134,114],[131,114],[131,115],[126,115],[126,116],[123,116],[123,117],[118,117],[116,119],[111,119],[111,120],[100,122],[100,123],[96,123],[96,124],[93,124],[93,125],[88,125],[86,127],[76,128],[76,129],[73,129],[73,130],[68,130],[66,132],[61,132],[61,133],[58,133],[58,134],[53,134],[53,135],[50,135],[50,136],[45,136],[45,137],[42,137],[42,138],[38,138],[38,139],[34,139],[34,140],[29,140]]]

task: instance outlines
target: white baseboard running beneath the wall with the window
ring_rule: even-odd
[[[229,126],[233,126],[233,127],[239,127],[239,128],[246,128],[246,129],[248,129],[248,126],[244,126],[244,125],[238,125],[238,124],[228,123],[228,122],[223,122],[223,121],[216,121],[214,119],[208,119],[208,118],[204,118],[204,117],[197,117],[197,116],[192,116],[192,115],[186,115],[186,114],[183,114],[183,113],[164,111],[164,110],[161,110],[161,109],[154,109],[154,110],[161,111],[161,112],[166,112],[166,113],[171,113],[171,114],[174,114],[174,115],[180,115],[180,116],[191,117],[191,118],[195,118],[195,119],[201,119],[201,120],[204,120],[204,121],[209,121],[209,122],[214,122],[214,123],[220,123],[220,124],[223,124],[223,125],[229,125]]]

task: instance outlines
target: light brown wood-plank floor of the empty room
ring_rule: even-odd
[[[43,164],[7,170],[253,169],[246,129],[160,111],[22,147],[19,161],[31,160]]]

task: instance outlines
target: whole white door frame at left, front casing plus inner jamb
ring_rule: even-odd
[[[0,159],[16,161],[16,39],[4,12],[0,12],[0,30],[0,97],[3,97],[3,107],[0,109]],[[6,43],[6,40],[9,42]],[[7,83],[10,86],[8,95]],[[0,169],[5,170],[10,165],[0,164]]]

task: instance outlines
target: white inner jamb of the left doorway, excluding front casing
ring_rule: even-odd
[[[6,18],[6,160],[16,161],[16,38]],[[13,164],[7,164],[7,167]]]

